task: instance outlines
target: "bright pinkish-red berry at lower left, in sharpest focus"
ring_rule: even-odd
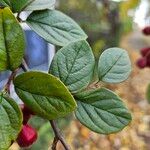
[[[21,132],[17,138],[17,143],[20,147],[31,146],[37,140],[37,132],[28,124],[23,125]]]

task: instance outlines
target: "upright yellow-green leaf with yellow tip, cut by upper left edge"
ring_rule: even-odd
[[[21,26],[9,8],[0,9],[0,71],[16,69],[22,62],[24,49]]]

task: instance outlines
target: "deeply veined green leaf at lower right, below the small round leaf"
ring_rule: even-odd
[[[100,88],[75,96],[77,119],[94,132],[111,134],[122,130],[131,121],[131,114],[112,91]]]

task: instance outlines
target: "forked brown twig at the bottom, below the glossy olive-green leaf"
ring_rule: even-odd
[[[59,128],[56,125],[56,122],[54,120],[50,120],[50,124],[53,128],[54,134],[55,134],[55,138],[52,144],[52,150],[56,150],[56,146],[58,141],[60,141],[62,143],[62,145],[64,146],[65,150],[70,150],[69,146],[67,145],[65,139],[63,138]]]

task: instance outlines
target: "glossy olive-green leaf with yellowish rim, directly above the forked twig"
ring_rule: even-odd
[[[46,119],[63,117],[76,108],[76,102],[56,77],[42,72],[27,72],[14,80],[15,91],[38,116]]]

